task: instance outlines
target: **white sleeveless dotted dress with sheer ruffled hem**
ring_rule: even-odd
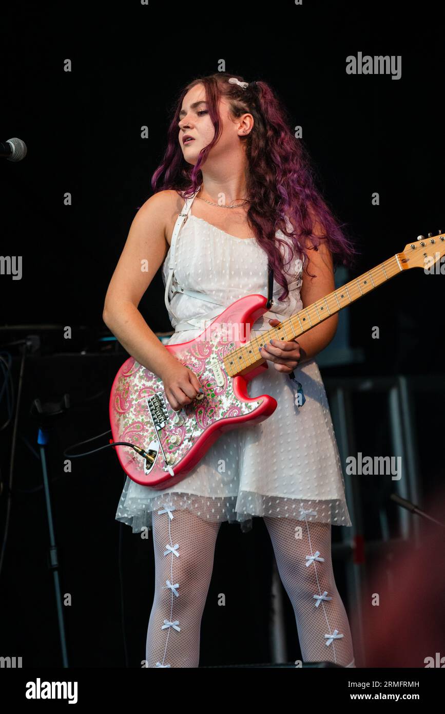
[[[282,231],[276,235],[290,243]],[[283,254],[287,250],[280,249]],[[164,285],[170,250],[162,268]],[[224,306],[252,293],[267,295],[267,255],[256,238],[230,236],[191,211],[178,236],[175,258],[175,278],[180,286],[207,293]],[[270,308],[280,320],[302,309],[302,261],[293,260],[286,270],[290,294],[286,301],[278,301],[282,287],[275,281]],[[173,328],[214,308],[183,293],[175,293],[171,307],[180,318],[169,310]],[[260,318],[252,326],[250,339],[267,329],[267,319]],[[189,341],[202,331],[175,331],[168,343]],[[165,491],[140,486],[127,477],[117,521],[140,533],[145,527],[152,528],[152,511],[174,506],[188,508],[205,521],[239,522],[243,532],[252,528],[253,516],[352,526],[317,363],[310,360],[295,369],[306,399],[302,406],[297,406],[295,382],[278,372],[272,362],[267,365],[266,371],[248,383],[247,391],[251,397],[263,393],[275,397],[278,406],[272,416],[260,424],[224,433],[188,476]]]

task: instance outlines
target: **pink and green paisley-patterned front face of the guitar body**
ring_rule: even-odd
[[[147,450],[148,445],[157,440],[146,400],[161,392],[169,419],[165,427],[158,431],[158,436],[165,455],[172,455],[170,466],[175,468],[213,423],[223,424],[228,418],[247,416],[255,411],[263,399],[245,401],[244,398],[237,398],[233,391],[233,378],[225,371],[223,357],[234,347],[233,342],[218,341],[218,338],[215,341],[201,338],[190,342],[182,350],[180,346],[175,346],[175,358],[195,373],[204,391],[202,398],[195,398],[178,413],[168,403],[162,380],[134,358],[128,358],[116,376],[111,393],[110,416],[114,441],[129,441]],[[215,357],[218,358],[220,381],[221,377],[223,381],[221,385],[217,383],[212,366]],[[176,421],[180,418],[183,423],[175,424],[175,417]],[[143,476],[145,459],[130,447],[119,448],[125,451],[126,470],[131,467],[131,471],[140,471]],[[159,452],[150,468],[150,475],[165,473],[166,468],[162,453]]]

